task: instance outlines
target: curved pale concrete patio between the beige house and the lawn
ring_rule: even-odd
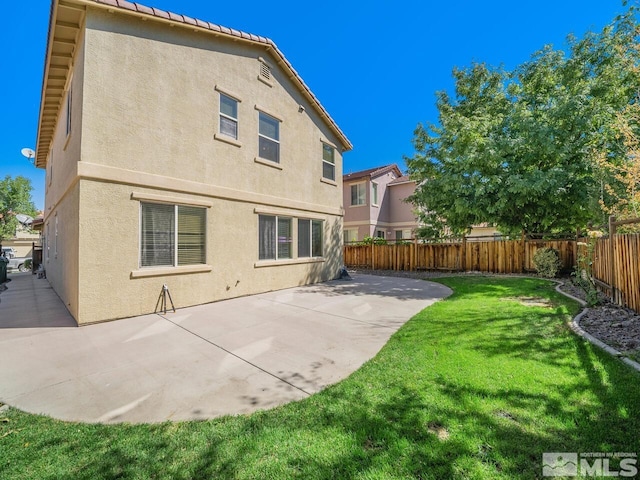
[[[205,419],[303,399],[451,293],[359,275],[76,327],[47,280],[11,278],[0,294],[0,402],[103,423]]]

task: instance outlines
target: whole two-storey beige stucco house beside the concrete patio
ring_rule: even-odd
[[[335,278],[350,149],[269,39],[52,2],[43,265],[79,324]]]

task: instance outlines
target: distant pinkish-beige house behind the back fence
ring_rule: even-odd
[[[350,173],[342,181],[345,244],[367,236],[413,238],[418,224],[413,205],[405,199],[416,184],[396,164]]]

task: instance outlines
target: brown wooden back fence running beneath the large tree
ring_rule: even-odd
[[[380,270],[525,273],[535,270],[533,255],[543,247],[558,250],[563,269],[575,265],[575,240],[346,245],[344,262],[351,268]]]

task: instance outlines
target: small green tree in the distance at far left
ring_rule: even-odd
[[[7,175],[0,180],[0,242],[15,235],[18,225],[16,214],[37,214],[31,199],[32,190],[31,180],[25,177]]]

